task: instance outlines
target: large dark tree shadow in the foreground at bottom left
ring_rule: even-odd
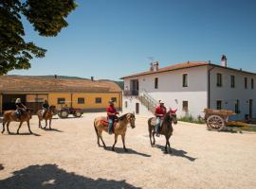
[[[31,165],[15,171],[13,176],[0,180],[0,188],[15,189],[81,189],[81,188],[138,188],[125,180],[105,180],[68,173],[56,164]]]

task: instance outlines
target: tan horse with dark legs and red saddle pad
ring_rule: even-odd
[[[125,133],[126,133],[127,125],[130,124],[132,129],[134,129],[136,127],[135,126],[135,120],[136,120],[136,118],[135,118],[135,114],[134,113],[126,113],[126,114],[121,115],[118,118],[118,122],[114,126],[115,143],[112,146],[112,150],[113,151],[115,151],[115,146],[116,146],[116,144],[118,142],[119,135],[121,135],[123,149],[125,151],[127,151],[126,146],[125,146]],[[103,147],[105,148],[106,146],[105,146],[105,143],[104,143],[104,141],[102,139],[102,130],[104,130],[106,132],[108,131],[108,126],[107,126],[106,118],[105,117],[97,117],[97,118],[95,118],[95,120],[94,120],[94,128],[95,128],[96,135],[97,135],[98,146],[101,146],[100,145],[100,139],[101,139]]]

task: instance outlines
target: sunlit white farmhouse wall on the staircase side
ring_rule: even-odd
[[[188,74],[188,87],[182,87],[183,74]],[[155,89],[155,77],[158,77],[158,89]],[[130,90],[130,79],[138,79],[140,93],[146,90],[156,101],[163,100],[166,107],[178,109],[178,116],[197,117],[199,114],[203,115],[204,109],[207,108],[207,66],[125,78],[125,90]],[[189,101],[189,112],[182,111],[182,101]]]

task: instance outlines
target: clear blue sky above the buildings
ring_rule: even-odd
[[[29,70],[9,75],[62,75],[118,80],[149,70],[210,60],[256,73],[255,0],[77,0],[69,26],[38,36],[24,20],[26,41],[46,48]]]

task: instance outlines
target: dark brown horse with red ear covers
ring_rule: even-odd
[[[166,145],[165,145],[165,152],[167,153],[167,146],[169,146],[170,152],[172,153],[172,149],[170,146],[170,142],[169,139],[173,134],[173,126],[172,123],[174,122],[174,124],[177,124],[177,119],[176,119],[176,111],[173,111],[172,109],[170,109],[169,112],[167,112],[165,114],[165,116],[163,117],[163,121],[161,124],[161,129],[159,131],[159,134],[164,135],[165,139],[166,139]],[[149,137],[150,137],[150,143],[151,146],[155,145],[155,117],[149,118],[148,120],[148,126],[149,126]],[[152,142],[152,136],[154,141]]]

